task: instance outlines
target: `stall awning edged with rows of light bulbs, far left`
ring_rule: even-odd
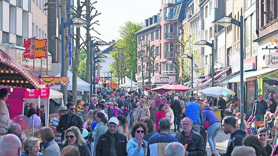
[[[0,49],[0,87],[41,89],[43,80]]]

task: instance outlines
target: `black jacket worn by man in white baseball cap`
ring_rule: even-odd
[[[111,141],[108,135],[109,130],[107,130],[104,134],[101,134],[101,136],[99,137],[96,144],[96,156],[109,155]],[[119,132],[117,133],[116,150],[117,156],[127,156],[127,137]]]

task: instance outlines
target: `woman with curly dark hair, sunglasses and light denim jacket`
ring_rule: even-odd
[[[148,131],[145,123],[133,123],[131,135],[132,139],[127,142],[128,156],[145,156],[147,153],[148,142],[143,140],[144,134]]]

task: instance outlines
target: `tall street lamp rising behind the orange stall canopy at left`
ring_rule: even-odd
[[[83,19],[80,18],[71,18],[67,22],[64,22],[64,17],[61,17],[61,77],[65,76],[65,32],[64,29],[69,27],[70,25],[73,25],[74,27],[82,27],[84,25],[88,25],[89,23]],[[61,92],[64,95],[64,103],[66,103],[67,100],[67,93],[65,90],[65,87],[61,85]]]

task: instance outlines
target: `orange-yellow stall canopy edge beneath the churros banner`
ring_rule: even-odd
[[[43,76],[41,79],[44,81],[46,86],[53,86],[53,85],[63,85],[67,86],[70,83],[69,77],[48,77]]]

